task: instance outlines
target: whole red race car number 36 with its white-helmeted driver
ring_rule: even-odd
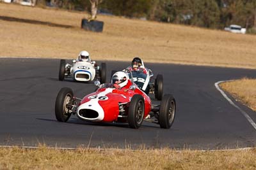
[[[62,88],[55,103],[57,120],[67,122],[72,114],[76,114],[78,118],[90,122],[122,122],[138,129],[143,120],[147,120],[169,129],[175,118],[174,97],[166,94],[160,105],[154,105],[150,97],[131,80],[126,73],[118,71],[113,74],[111,83],[100,85],[99,81],[95,81],[99,88],[83,99],[74,97],[71,89]]]

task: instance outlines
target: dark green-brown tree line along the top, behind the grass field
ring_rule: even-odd
[[[90,11],[90,0],[45,0],[60,8]],[[100,12],[175,24],[256,30],[256,0],[101,0]]]

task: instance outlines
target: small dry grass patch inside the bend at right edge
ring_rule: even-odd
[[[256,111],[256,80],[243,78],[241,80],[221,83],[220,87],[252,110]]]

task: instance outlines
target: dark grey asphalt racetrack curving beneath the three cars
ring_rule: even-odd
[[[112,69],[129,65],[106,63],[108,80]],[[57,122],[54,103],[61,87],[72,88],[76,97],[95,89],[93,83],[58,81],[59,64],[56,59],[0,59],[0,145],[204,150],[256,145],[256,130],[214,87],[220,80],[256,78],[256,70],[146,63],[155,75],[163,74],[164,93],[175,96],[177,115],[171,129],[148,122],[130,129],[128,124],[84,122],[75,115]],[[256,122],[255,112],[234,103]]]

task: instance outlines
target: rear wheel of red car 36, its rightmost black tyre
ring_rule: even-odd
[[[161,128],[169,129],[174,121],[176,103],[172,95],[166,94],[161,101],[158,122]]]

